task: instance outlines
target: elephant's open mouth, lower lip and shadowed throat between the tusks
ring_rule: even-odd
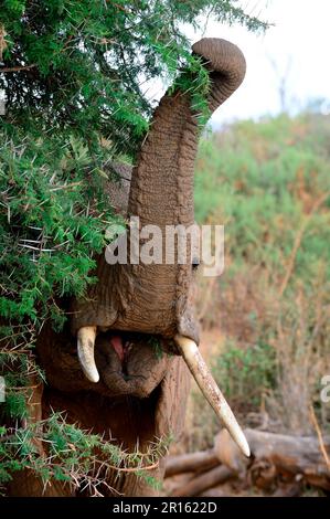
[[[86,380],[72,341],[63,341],[60,349],[50,345],[47,351],[40,350],[49,379],[44,414],[50,409],[64,411],[71,423],[117,439],[129,451],[137,444],[146,451],[170,434],[168,374],[182,359],[171,353],[169,342],[138,332],[99,332],[95,342],[97,383]]]

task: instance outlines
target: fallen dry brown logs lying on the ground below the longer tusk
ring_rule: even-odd
[[[168,459],[167,478],[193,473],[189,481],[180,483],[171,496],[221,495],[221,488],[214,487],[237,477],[241,481],[252,480],[255,487],[274,495],[299,495],[304,484],[330,490],[330,437],[322,437],[317,421],[313,424],[318,437],[246,428],[244,433],[251,446],[251,458],[242,455],[226,430],[221,431],[212,449]]]

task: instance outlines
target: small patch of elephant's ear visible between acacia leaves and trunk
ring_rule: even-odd
[[[123,162],[110,162],[104,169],[110,176],[110,180],[104,182],[109,202],[117,214],[126,218],[132,167]]]

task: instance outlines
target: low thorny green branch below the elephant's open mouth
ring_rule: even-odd
[[[24,428],[0,430],[0,488],[12,478],[12,473],[31,469],[43,485],[51,479],[71,481],[76,488],[92,495],[102,495],[106,475],[114,469],[118,473],[134,470],[137,477],[146,478],[151,486],[159,481],[146,475],[148,467],[158,463],[169,447],[171,438],[161,438],[150,444],[147,452],[128,453],[97,434],[82,431],[65,422],[61,413],[53,413],[39,424]],[[45,455],[40,456],[40,449]],[[102,470],[104,477],[97,474]],[[110,489],[110,488],[109,488]]]

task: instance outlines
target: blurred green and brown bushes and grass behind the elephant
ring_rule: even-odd
[[[242,421],[266,410],[294,434],[312,433],[311,403],[330,424],[320,399],[330,369],[329,141],[329,117],[280,115],[204,138],[196,162],[196,218],[225,225],[225,269],[206,308],[210,284],[200,280],[203,324],[221,330],[214,375]],[[194,405],[201,448],[217,424],[198,395]]]

